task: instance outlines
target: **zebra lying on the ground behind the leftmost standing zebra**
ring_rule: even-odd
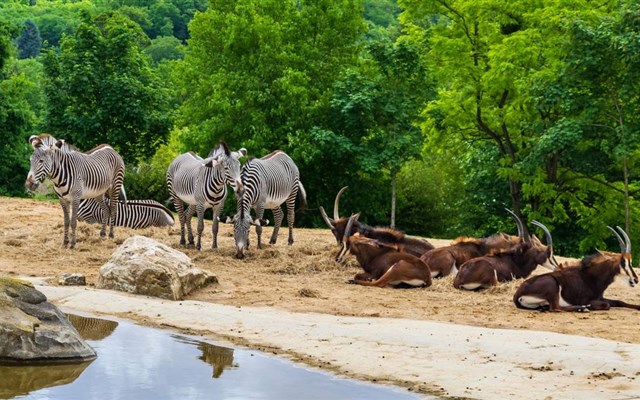
[[[116,208],[116,226],[143,229],[151,226],[171,226],[175,222],[171,211],[155,200],[128,199],[126,204],[118,201]],[[104,212],[96,200],[80,200],[78,220],[88,224],[95,224],[101,223],[103,219]]]

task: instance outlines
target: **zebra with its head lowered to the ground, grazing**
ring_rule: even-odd
[[[249,228],[256,226],[258,248],[262,248],[262,225],[268,223],[263,220],[264,210],[273,211],[274,227],[269,243],[278,240],[278,230],[282,224],[284,214],[281,204],[287,203],[287,222],[289,224],[289,245],[293,244],[293,223],[295,220],[295,201],[298,192],[303,204],[306,204],[307,194],[300,182],[298,167],[285,152],[277,150],[260,159],[251,159],[242,167],[242,183],[244,194],[238,198],[238,210],[231,219],[234,224],[233,235],[236,242],[236,257],[244,258],[245,250],[249,247]],[[255,219],[251,218],[253,208]]]

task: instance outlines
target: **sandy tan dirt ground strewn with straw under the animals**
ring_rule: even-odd
[[[194,223],[195,227],[195,223]],[[78,224],[78,244],[62,246],[62,211],[57,202],[0,197],[0,274],[58,277],[65,272],[85,274],[95,284],[99,268],[113,250],[131,235],[144,235],[184,251],[200,268],[215,274],[219,284],[190,296],[235,306],[268,306],[295,312],[333,315],[408,318],[452,322],[480,327],[542,330],[640,343],[640,313],[613,309],[589,313],[541,313],[518,310],[512,296],[521,281],[475,293],[454,289],[452,278],[436,280],[424,289],[379,289],[347,284],[360,268],[355,260],[337,265],[335,239],[328,229],[295,229],[295,244],[287,246],[286,229],[276,245],[251,248],[249,257],[233,257],[231,226],[221,224],[219,248],[212,250],[207,221],[203,251],[182,249],[179,225],[130,230],[118,228],[115,240],[99,237],[99,226]],[[265,228],[263,239],[271,235]],[[441,246],[450,240],[430,241]],[[252,244],[255,236],[252,230]],[[536,273],[542,273],[540,268]],[[56,279],[50,280],[52,283]],[[616,280],[609,298],[640,304],[640,289]]]

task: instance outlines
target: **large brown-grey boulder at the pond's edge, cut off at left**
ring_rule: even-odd
[[[0,362],[80,362],[96,352],[29,282],[0,276]]]

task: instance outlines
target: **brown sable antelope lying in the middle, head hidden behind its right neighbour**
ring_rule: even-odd
[[[427,251],[420,256],[420,259],[429,266],[432,278],[442,278],[457,274],[458,267],[472,258],[497,250],[505,250],[517,244],[519,240],[519,237],[506,233],[498,233],[482,239],[460,237],[449,246]]]

